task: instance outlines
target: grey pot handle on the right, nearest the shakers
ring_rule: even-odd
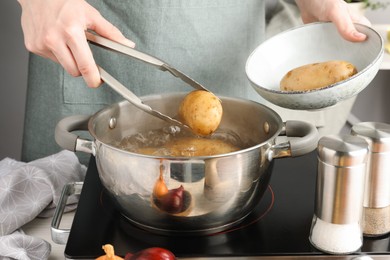
[[[282,135],[298,138],[291,138],[287,142],[274,145],[272,147],[273,158],[305,155],[314,151],[318,146],[318,130],[313,124],[308,122],[286,121]]]

